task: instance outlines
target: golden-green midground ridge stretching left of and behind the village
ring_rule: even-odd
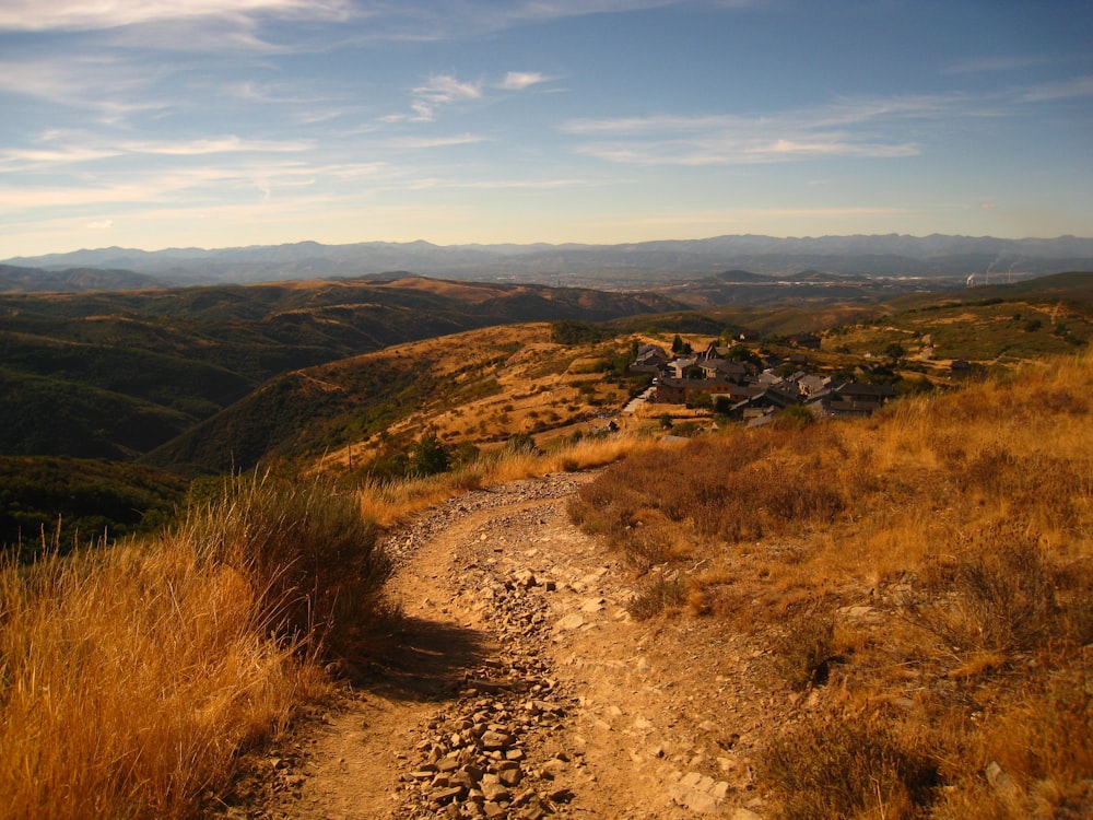
[[[146,460],[224,471],[271,458],[306,462],[325,454],[326,464],[351,470],[354,457],[360,467],[404,452],[423,430],[450,445],[473,447],[514,434],[553,441],[595,429],[597,417],[616,415],[644,386],[611,377],[625,370],[620,358],[638,343],[667,349],[677,332],[698,350],[718,338],[742,336],[755,351],[785,358],[794,350],[784,337],[820,332],[822,349],[809,356],[813,372],[886,366],[889,353],[901,351],[894,377],[949,384],[953,360],[980,371],[1006,367],[1080,350],[1093,338],[1089,303],[1060,303],[1060,288],[1073,283],[1036,281],[1048,286],[1041,292],[1033,283],[1012,285],[1009,298],[966,304],[935,294],[893,313],[843,306],[643,315],[607,323],[600,342],[562,344],[545,325],[525,325],[407,343],[277,377]],[[968,293],[979,295],[978,289]]]

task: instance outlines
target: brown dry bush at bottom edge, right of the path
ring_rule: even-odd
[[[925,748],[861,717],[813,717],[767,747],[761,775],[787,820],[914,818],[939,785]]]

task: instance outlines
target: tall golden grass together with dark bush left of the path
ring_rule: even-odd
[[[0,567],[0,818],[199,816],[327,691],[320,651],[384,572],[353,499],[268,479],[155,540]]]

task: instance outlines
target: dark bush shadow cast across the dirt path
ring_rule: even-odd
[[[486,656],[484,636],[477,630],[408,616],[392,626],[384,652],[354,676],[359,684],[391,700],[446,700]]]

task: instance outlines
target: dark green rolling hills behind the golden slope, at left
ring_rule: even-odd
[[[469,328],[677,304],[413,277],[0,295],[0,454],[130,459],[301,367]]]

